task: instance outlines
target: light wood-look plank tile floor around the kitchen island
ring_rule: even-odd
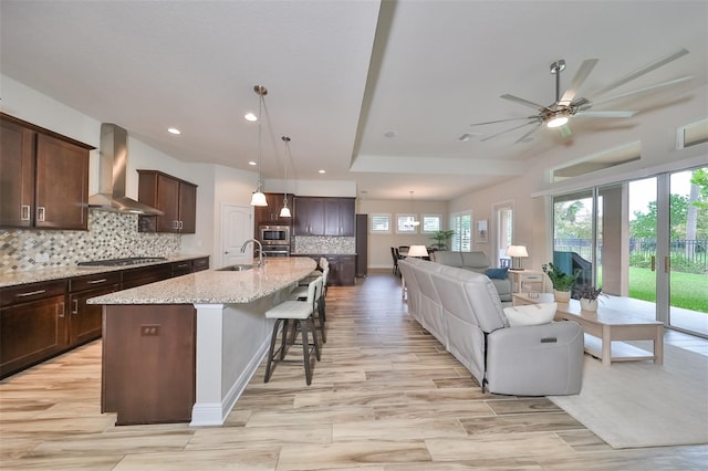
[[[386,271],[330,289],[326,325],[310,387],[301,365],[269,384],[261,365],[223,427],[115,427],[100,414],[100,341],[7,378],[0,469],[708,469],[708,447],[613,450],[545,398],[482,394]]]

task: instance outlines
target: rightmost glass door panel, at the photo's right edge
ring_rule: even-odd
[[[669,181],[669,250],[660,266],[669,276],[668,323],[708,335],[708,168]]]

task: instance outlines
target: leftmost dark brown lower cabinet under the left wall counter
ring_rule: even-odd
[[[0,290],[0,377],[69,347],[66,280]]]

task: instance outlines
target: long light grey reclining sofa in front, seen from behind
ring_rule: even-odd
[[[580,393],[583,332],[575,322],[510,327],[491,281],[454,266],[398,262],[408,312],[479,381],[496,394]]]

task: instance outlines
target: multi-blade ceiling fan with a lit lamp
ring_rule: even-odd
[[[665,57],[662,57],[639,70],[637,70],[636,72],[633,72],[628,75],[625,75],[624,77],[611,83],[610,85],[603,87],[602,90],[596,91],[595,93],[591,94],[590,96],[596,96],[600,97],[603,94],[611,92],[622,85],[624,85],[627,82],[631,82],[644,74],[647,74],[663,65],[668,64],[669,62],[673,62],[675,60],[677,60],[678,57],[681,57],[684,55],[688,54],[688,51],[686,49],[681,49],[679,51],[676,51]],[[551,105],[549,106],[544,106],[544,105],[540,105],[538,103],[534,102],[530,102],[528,100],[524,98],[520,98],[518,96],[514,95],[510,95],[510,94],[503,94],[501,95],[501,98],[504,100],[509,100],[511,102],[524,105],[524,106],[529,106],[532,107],[534,109],[537,109],[537,114],[535,115],[531,115],[531,116],[524,116],[524,117],[518,117],[518,118],[509,118],[509,119],[497,119],[497,121],[489,121],[489,122],[485,122],[485,123],[473,123],[470,126],[485,126],[485,125],[489,125],[489,124],[497,124],[497,123],[506,123],[506,122],[512,122],[512,121],[525,121],[525,123],[519,125],[519,126],[514,126],[512,128],[509,129],[504,129],[502,132],[492,134],[490,136],[487,136],[480,140],[489,140],[493,137],[497,137],[501,134],[506,134],[506,133],[510,133],[512,130],[516,129],[520,129],[522,127],[525,126],[531,126],[534,125],[533,128],[531,130],[529,130],[528,133],[525,133],[523,136],[521,136],[519,139],[516,140],[514,144],[523,142],[524,139],[527,139],[528,137],[530,137],[533,133],[535,133],[541,125],[545,124],[548,127],[550,128],[560,128],[561,130],[561,136],[563,137],[568,137],[571,135],[571,129],[570,126],[568,125],[568,122],[571,117],[596,117],[596,118],[628,118],[634,116],[637,112],[632,112],[632,111],[591,111],[591,107],[602,104],[602,103],[608,103],[612,102],[614,100],[620,100],[620,98],[625,98],[627,96],[631,95],[636,95],[636,94],[641,94],[641,93],[648,93],[648,92],[654,92],[657,91],[659,88],[666,87],[666,86],[670,86],[670,85],[676,85],[678,83],[681,82],[686,82],[688,80],[691,78],[691,76],[683,76],[679,78],[674,78],[670,80],[668,82],[662,82],[659,84],[656,85],[650,85],[644,88],[638,88],[638,90],[633,90],[631,92],[625,92],[622,93],[620,95],[615,95],[615,96],[611,96],[611,97],[606,97],[606,98],[601,98],[601,100],[593,100],[593,98],[584,98],[582,96],[576,97],[579,90],[581,88],[581,86],[583,85],[583,83],[585,82],[585,80],[587,78],[587,76],[590,75],[590,73],[592,72],[593,67],[595,66],[595,64],[597,63],[597,59],[589,59],[586,61],[584,61],[581,66],[580,70],[575,73],[575,76],[573,77],[573,80],[571,81],[570,86],[565,90],[565,92],[563,92],[563,95],[561,95],[561,72],[565,69],[565,61],[564,60],[558,60],[555,62],[553,62],[551,64],[551,74],[555,75],[555,102],[553,102]]]

